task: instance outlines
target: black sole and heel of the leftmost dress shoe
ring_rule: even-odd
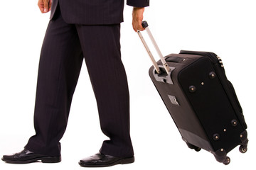
[[[2,158],[2,161],[9,163],[9,164],[28,164],[32,162],[41,161],[42,163],[58,163],[61,162],[61,157],[38,157],[35,159],[29,159],[25,161],[14,161]]]

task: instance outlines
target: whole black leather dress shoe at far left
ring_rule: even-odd
[[[43,163],[57,163],[61,157],[49,157],[43,154],[35,154],[27,149],[12,155],[4,155],[2,161],[10,164],[28,164],[41,161]]]

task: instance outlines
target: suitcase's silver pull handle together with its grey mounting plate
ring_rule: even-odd
[[[153,43],[153,45],[156,49],[156,52],[158,53],[160,60],[162,62],[162,65],[158,65],[156,63],[156,60],[154,60],[154,57],[153,57],[151,51],[149,50],[149,46],[146,44],[146,41],[144,40],[142,33],[139,30],[137,30],[139,38],[142,40],[142,43],[146,49],[146,52],[148,52],[151,62],[154,65],[153,75],[154,75],[156,81],[161,81],[161,82],[164,82],[167,84],[174,84],[174,82],[171,79],[171,72],[174,71],[175,67],[169,67],[169,65],[166,63],[166,60],[164,60],[164,56],[162,55],[161,51],[159,50],[159,47],[156,44],[156,40],[154,40],[154,37],[151,34],[151,31],[149,30],[148,23],[146,21],[143,21],[142,26],[143,26],[143,28],[146,29],[146,33],[148,33],[149,38],[150,38],[151,42]]]

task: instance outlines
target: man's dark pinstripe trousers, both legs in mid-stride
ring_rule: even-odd
[[[133,156],[129,90],[119,38],[119,24],[68,24],[58,8],[43,41],[34,113],[36,135],[30,138],[26,149],[49,156],[60,155],[59,141],[68,123],[70,104],[85,58],[101,129],[110,137],[103,142],[100,152],[115,157]]]

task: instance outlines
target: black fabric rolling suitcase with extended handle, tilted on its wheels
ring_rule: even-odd
[[[142,25],[161,58],[155,62],[138,31],[154,64],[149,76],[188,147],[206,149],[223,164],[230,163],[227,153],[238,145],[245,153],[247,125],[220,57],[212,52],[185,50],[163,57],[146,21]]]

